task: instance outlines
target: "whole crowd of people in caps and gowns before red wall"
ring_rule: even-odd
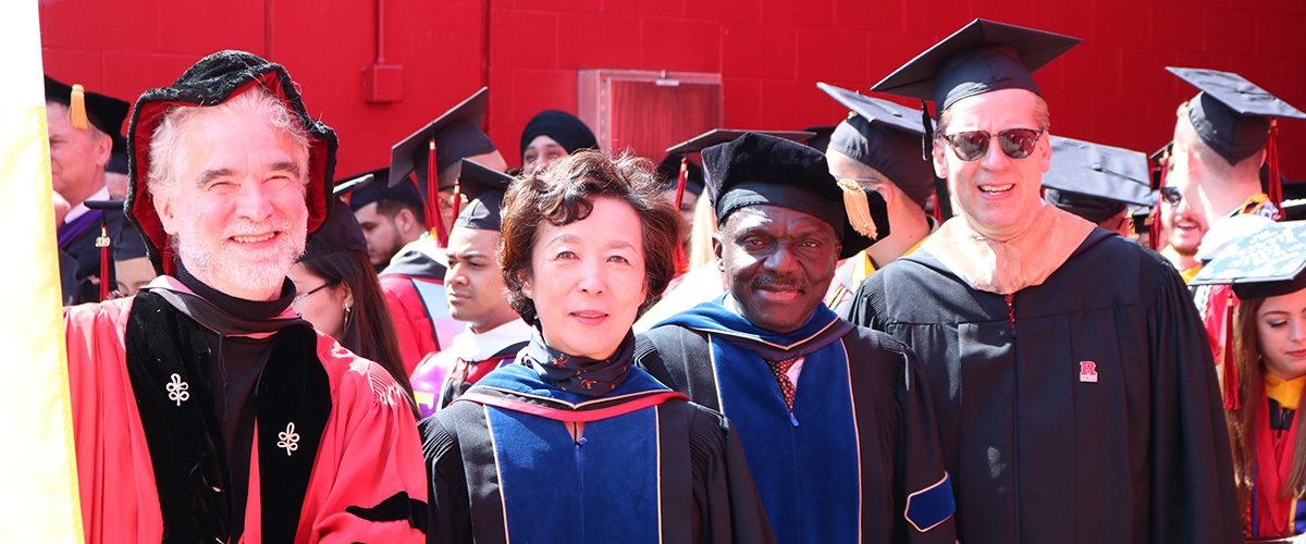
[[[543,111],[517,170],[481,89],[353,176],[251,53],[47,76],[88,540],[1293,541],[1306,113],[1168,68],[1152,157],[1053,136],[1077,43],[976,20],[872,89],[932,115],[661,157]]]

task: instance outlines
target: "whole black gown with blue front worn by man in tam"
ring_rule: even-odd
[[[934,407],[902,343],[824,305],[795,331],[714,301],[644,334],[640,364],[734,423],[780,543],[953,543]],[[802,356],[793,411],[767,360]]]

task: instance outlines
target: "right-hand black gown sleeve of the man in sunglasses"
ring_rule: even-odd
[[[1158,274],[1152,359],[1152,541],[1242,541],[1233,461],[1211,346],[1183,280]]]

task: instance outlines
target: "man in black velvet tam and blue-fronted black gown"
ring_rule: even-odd
[[[837,258],[888,234],[883,198],[771,136],[703,162],[730,290],[645,333],[641,364],[730,417],[777,541],[953,543],[919,363],[821,301]]]

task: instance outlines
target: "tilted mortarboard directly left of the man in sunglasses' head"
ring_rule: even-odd
[[[918,206],[935,192],[934,166],[921,157],[921,112],[889,100],[818,82],[850,110],[829,140],[829,149],[883,174]]]

